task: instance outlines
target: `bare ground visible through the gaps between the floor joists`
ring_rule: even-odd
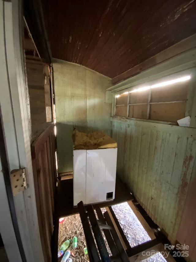
[[[145,229],[142,227],[138,218],[133,213],[130,206],[125,202],[119,205],[112,206],[112,209],[118,218],[120,225],[130,243],[131,247],[134,247],[138,244],[144,243],[150,240],[149,235],[146,233]],[[101,209],[104,213],[105,208]],[[103,234],[103,232],[102,232]],[[72,239],[73,237],[77,237],[77,248],[72,249]],[[103,234],[106,247],[109,255],[111,255],[111,251]],[[85,243],[85,235],[82,228],[82,223],[80,220],[80,215],[72,215],[69,217],[65,217],[65,221],[59,224],[59,232],[58,232],[58,250],[60,250],[60,246],[65,240],[71,239],[70,246],[68,249],[71,251],[71,258],[73,262],[85,262],[88,260],[88,255],[84,254],[84,248],[86,247]],[[59,258],[58,262],[62,259]],[[164,257],[157,253],[154,256],[149,257],[148,259],[142,260],[143,262],[165,262]]]

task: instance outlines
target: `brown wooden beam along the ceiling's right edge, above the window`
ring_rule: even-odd
[[[175,45],[170,46],[168,49],[165,49],[164,51],[147,59],[146,61],[140,63],[139,65],[136,65],[133,68],[130,68],[126,72],[118,76],[115,76],[112,79],[112,84],[117,84],[119,82],[122,82],[131,76],[135,76],[148,68],[151,68],[157,64],[160,64],[161,62],[164,62],[176,55],[184,53],[195,47],[196,47],[196,34],[180,41],[179,43]]]

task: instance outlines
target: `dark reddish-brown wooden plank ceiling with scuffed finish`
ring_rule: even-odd
[[[41,0],[52,56],[111,78],[196,33],[195,0]]]

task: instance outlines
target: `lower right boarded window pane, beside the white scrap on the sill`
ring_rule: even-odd
[[[159,121],[176,122],[185,117],[186,102],[152,104],[150,106],[150,119]]]

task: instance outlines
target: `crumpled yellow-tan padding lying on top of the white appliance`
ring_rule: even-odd
[[[104,132],[94,132],[90,134],[82,133],[74,130],[72,139],[75,149],[103,149],[115,148],[117,143],[114,139],[106,135]]]

